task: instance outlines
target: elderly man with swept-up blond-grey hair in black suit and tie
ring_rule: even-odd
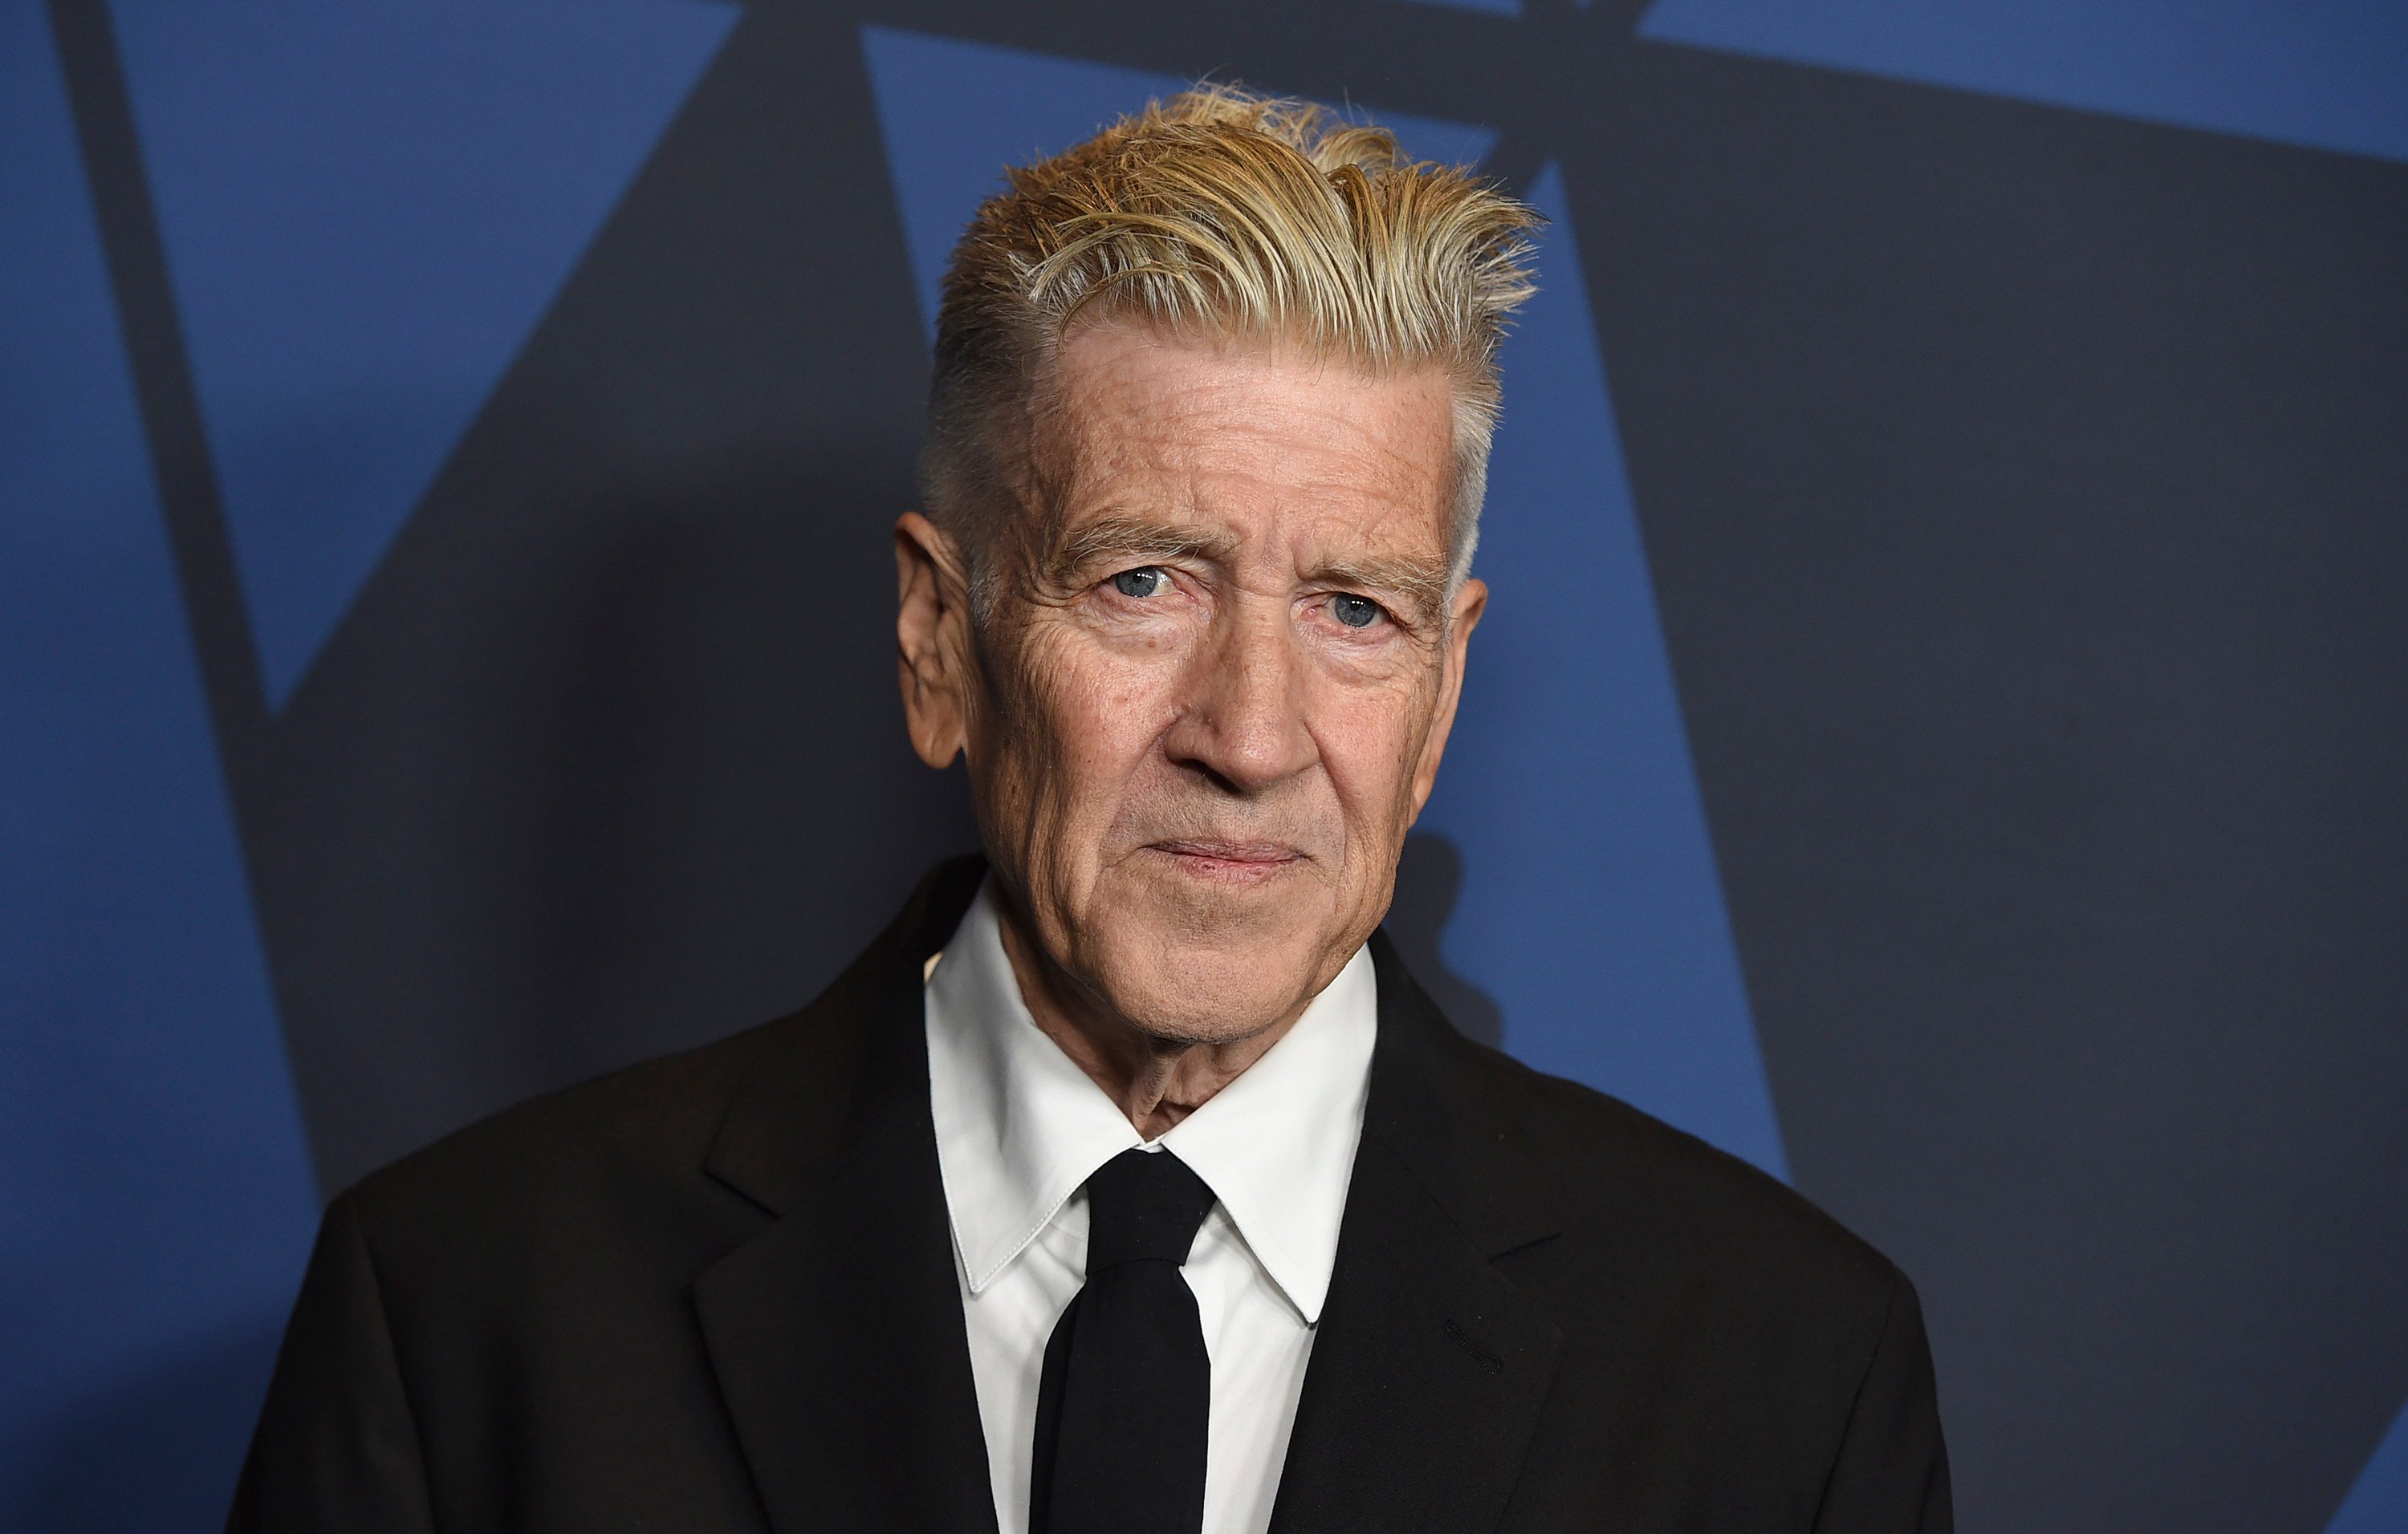
[[[1905,1276],[1377,934],[1529,224],[1235,92],[1011,176],[896,525],[985,857],[335,1199],[238,1529],[1948,1527]]]

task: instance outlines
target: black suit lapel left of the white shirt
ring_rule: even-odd
[[[917,985],[975,889],[975,865],[939,869],[763,1052],[710,1151],[708,1170],[773,1216],[694,1305],[780,1534],[995,1529]],[[795,1110],[831,1081],[852,1084],[848,1105]]]

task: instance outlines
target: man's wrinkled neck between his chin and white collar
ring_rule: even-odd
[[[1245,1038],[1163,1038],[1146,1033],[1081,985],[1028,937],[1011,901],[997,901],[1004,956],[1021,985],[1028,1016],[1045,1038],[1086,1072],[1088,1081],[1137,1125],[1146,1139],[1165,1134],[1216,1091],[1245,1074],[1286,1038],[1296,1014]]]

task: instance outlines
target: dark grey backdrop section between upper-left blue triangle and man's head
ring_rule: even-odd
[[[927,354],[874,120],[848,17],[746,12],[272,722],[330,1192],[809,1002],[973,845],[896,701]]]

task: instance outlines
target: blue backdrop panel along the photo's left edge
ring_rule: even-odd
[[[200,1529],[318,1194],[29,0],[0,142],[0,1527]]]

